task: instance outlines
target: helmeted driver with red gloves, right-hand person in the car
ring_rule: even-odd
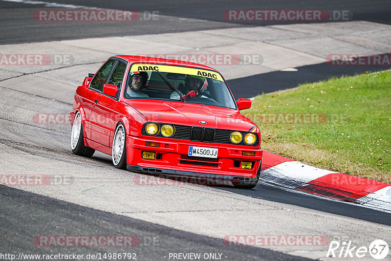
[[[204,85],[204,82],[205,82],[205,77],[188,74],[186,75],[183,84],[179,84],[178,90],[181,93],[185,94],[183,95],[183,98],[185,98],[185,100],[193,99],[197,97],[199,91]],[[171,93],[170,99],[180,100],[179,93],[174,91],[173,93]]]

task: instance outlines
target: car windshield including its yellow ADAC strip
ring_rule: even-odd
[[[138,88],[134,85],[133,76],[141,75],[143,78],[146,77],[145,73],[148,73],[148,80],[145,86]],[[197,95],[188,95],[193,90],[197,91]],[[220,74],[215,71],[171,65],[132,65],[124,97],[181,101],[236,109],[236,102]]]

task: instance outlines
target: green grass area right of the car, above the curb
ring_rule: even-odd
[[[391,71],[263,94],[242,113],[260,127],[266,151],[391,183]],[[287,123],[280,113],[319,113],[321,123]],[[270,123],[266,115],[276,119]]]

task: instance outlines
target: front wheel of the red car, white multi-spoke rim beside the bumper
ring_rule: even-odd
[[[122,122],[114,132],[111,159],[115,168],[126,170],[126,130]]]

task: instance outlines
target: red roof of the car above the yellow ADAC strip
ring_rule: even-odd
[[[191,62],[185,62],[185,61],[179,61],[179,60],[172,60],[172,59],[164,59],[164,58],[157,58],[157,57],[148,57],[148,56],[135,56],[135,55],[115,55],[114,57],[122,58],[131,64],[134,63],[152,63],[152,64],[163,64],[163,65],[179,65],[179,66],[185,66],[185,67],[196,67],[200,69],[207,69],[207,70],[213,70],[217,71],[216,69],[206,66],[206,65],[200,65],[195,64]],[[217,71],[219,73],[219,71]]]

